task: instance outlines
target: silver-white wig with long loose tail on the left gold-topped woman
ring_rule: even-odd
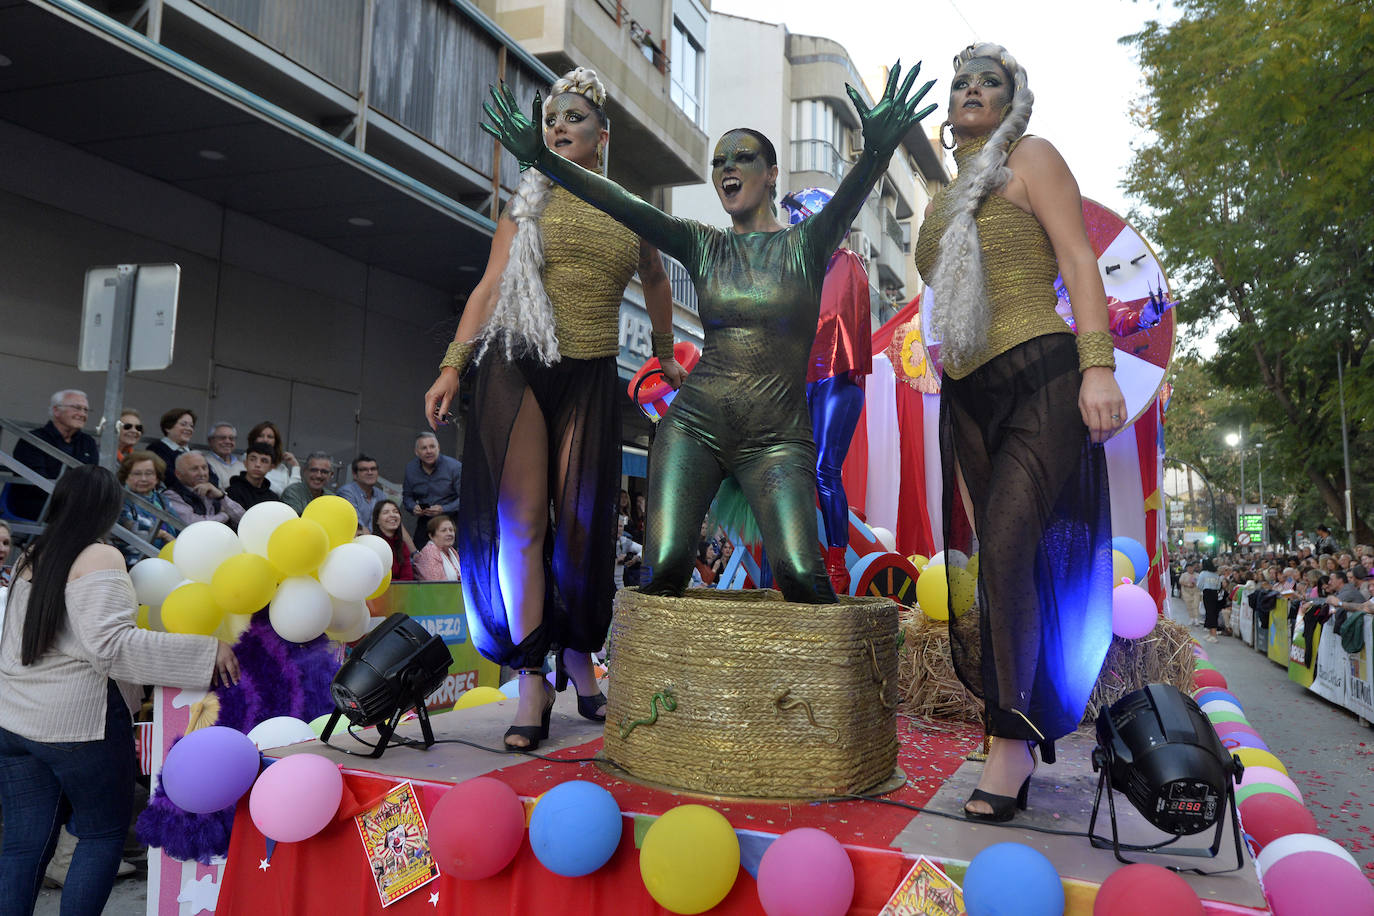
[[[595,70],[577,67],[569,70],[548,89],[544,110],[554,96],[576,92],[585,96],[598,111],[606,103],[606,87]],[[607,124],[605,113],[602,124]],[[496,308],[492,316],[477,332],[475,358],[482,358],[493,341],[500,341],[506,358],[530,354],[545,365],[558,363],[558,336],[554,334],[554,306],[544,291],[544,236],[539,229],[539,218],[548,206],[554,183],[543,172],[528,169],[521,176],[515,196],[511,198],[507,216],[515,221],[515,238],[511,240],[510,260],[502,272]]]

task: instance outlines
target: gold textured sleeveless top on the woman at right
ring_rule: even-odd
[[[926,283],[934,276],[940,239],[949,225],[949,209],[965,174],[965,163],[982,150],[982,140],[966,143],[954,152],[959,179],[936,192],[930,216],[916,238],[916,269]],[[988,343],[976,357],[959,365],[944,364],[945,375],[962,379],[995,356],[1000,356],[1041,334],[1073,334],[1054,310],[1058,297],[1054,280],[1059,265],[1044,227],[1011,201],[989,194],[978,207],[978,240],[982,247],[984,287],[992,310]]]

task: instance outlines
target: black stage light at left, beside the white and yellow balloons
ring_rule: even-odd
[[[353,647],[334,676],[334,713],[320,740],[328,743],[339,717],[348,717],[353,725],[376,725],[376,747],[368,757],[381,757],[401,715],[414,709],[429,747],[434,731],[425,698],[440,688],[452,663],[442,637],[431,636],[405,614],[392,614]]]

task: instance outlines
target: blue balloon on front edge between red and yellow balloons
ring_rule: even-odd
[[[534,805],[529,845],[548,871],[580,878],[616,854],[622,821],[610,792],[596,783],[570,780],[544,792]]]

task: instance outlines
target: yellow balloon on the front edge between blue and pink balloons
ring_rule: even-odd
[[[739,838],[725,817],[705,805],[682,805],[649,828],[639,849],[639,876],[660,906],[703,913],[735,886]]]

